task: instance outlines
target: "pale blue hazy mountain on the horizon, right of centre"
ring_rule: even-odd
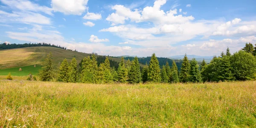
[[[187,57],[189,58],[189,60],[191,60],[192,58],[195,58],[195,60],[197,61],[203,61],[203,59],[207,62],[211,61],[213,56],[199,56],[199,55],[187,55]],[[184,55],[175,55],[175,56],[170,56],[167,57],[170,59],[183,59]]]

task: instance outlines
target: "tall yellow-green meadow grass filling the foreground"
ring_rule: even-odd
[[[0,81],[3,127],[256,127],[256,81],[71,84]]]

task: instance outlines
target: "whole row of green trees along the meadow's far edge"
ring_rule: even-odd
[[[71,62],[64,59],[59,66],[57,81],[62,82],[81,82],[81,83],[197,83],[206,81],[245,81],[256,79],[256,57],[254,52],[256,47],[251,49],[249,44],[231,55],[230,49],[226,53],[222,52],[221,56],[214,57],[207,64],[204,60],[201,65],[193,58],[188,60],[186,54],[182,60],[180,71],[178,71],[175,61],[166,64],[160,68],[159,61],[155,54],[152,54],[149,64],[145,64],[142,71],[140,70],[139,59],[135,57],[132,61],[121,58],[118,68],[110,66],[108,57],[105,61],[98,64],[95,55],[84,58],[81,63],[77,64],[76,58]],[[170,66],[171,65],[171,66]],[[80,67],[80,71],[79,71]],[[55,78],[52,69],[52,54],[50,53],[39,77],[41,81],[51,81]]]

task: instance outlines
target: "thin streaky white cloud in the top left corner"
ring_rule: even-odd
[[[36,3],[32,3],[29,0],[0,0],[1,3],[6,4],[12,9],[18,9],[20,11],[31,11],[31,12],[44,12],[48,15],[52,14],[52,8],[47,6],[40,6]]]

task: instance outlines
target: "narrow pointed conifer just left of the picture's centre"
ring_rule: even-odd
[[[118,73],[118,81],[120,83],[126,83],[127,80],[128,80],[128,71],[125,67],[125,63],[124,63],[124,58],[122,57],[121,58],[121,62],[119,63],[119,67],[118,67],[118,70],[117,70],[117,73]]]

